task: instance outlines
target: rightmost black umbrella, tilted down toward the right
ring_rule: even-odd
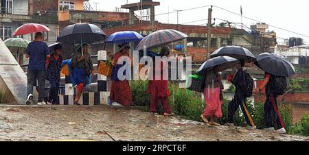
[[[257,56],[255,64],[263,71],[277,76],[289,77],[295,74],[293,64],[273,53],[262,53]]]

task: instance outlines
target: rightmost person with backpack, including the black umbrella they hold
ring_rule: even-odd
[[[279,113],[277,97],[284,95],[287,86],[286,77],[295,73],[293,64],[272,53],[262,53],[257,58],[258,67],[265,71],[265,80],[262,86],[255,90],[260,93],[265,88],[266,101],[264,104],[264,123],[265,129],[284,134],[283,119]]]

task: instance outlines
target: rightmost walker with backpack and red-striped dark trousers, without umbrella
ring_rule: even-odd
[[[281,81],[281,82],[279,82]],[[278,85],[279,84],[279,85]],[[279,134],[285,134],[283,119],[279,113],[277,105],[277,97],[282,95],[278,93],[286,87],[286,78],[272,75],[265,72],[265,80],[255,93],[261,93],[265,88],[266,101],[264,104],[264,130],[275,131]],[[275,130],[275,127],[278,130]]]

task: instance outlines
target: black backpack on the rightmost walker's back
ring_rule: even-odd
[[[274,95],[284,95],[288,86],[286,77],[271,75],[271,93]]]

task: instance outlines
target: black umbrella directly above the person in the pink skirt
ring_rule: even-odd
[[[240,61],[236,58],[231,58],[229,56],[218,56],[204,62],[196,73],[204,74],[206,71],[214,69],[214,67],[216,67],[218,71],[225,71],[238,63],[240,63]]]

